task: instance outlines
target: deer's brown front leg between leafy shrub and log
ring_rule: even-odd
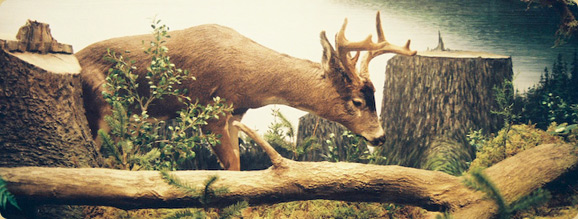
[[[207,125],[212,133],[221,136],[221,144],[214,145],[213,152],[226,170],[241,170],[239,129],[233,125],[233,121],[241,121],[242,118],[243,114],[227,114],[219,121]]]

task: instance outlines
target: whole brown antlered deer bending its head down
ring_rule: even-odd
[[[363,136],[372,145],[385,140],[379,124],[375,88],[369,79],[371,59],[384,53],[415,55],[408,40],[405,46],[392,45],[385,40],[377,13],[378,41],[371,35],[360,42],[345,38],[347,19],[335,39],[335,49],[321,32],[323,55],[321,63],[290,57],[266,48],[238,32],[219,25],[201,25],[171,31],[166,46],[170,48],[172,63],[187,69],[197,80],[183,82],[188,96],[208,104],[213,97],[224,98],[234,110],[219,120],[212,120],[205,129],[221,135],[221,144],[213,146],[221,165],[227,170],[239,170],[238,129],[233,121],[240,121],[248,109],[269,104],[285,104],[343,124]],[[84,101],[89,126],[96,138],[98,129],[107,129],[103,117],[111,109],[102,97],[106,73],[112,63],[103,59],[107,48],[114,51],[139,51],[142,41],[152,35],[128,36],[92,44],[76,56],[82,66]],[[367,51],[356,63],[360,51]],[[351,52],[356,52],[352,56]],[[136,60],[137,73],[145,74],[145,53],[131,53]],[[145,83],[146,86],[146,83]],[[166,98],[149,108],[149,114],[160,119],[175,117],[183,107],[176,99]]]

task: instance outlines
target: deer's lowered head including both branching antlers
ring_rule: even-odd
[[[320,116],[343,124],[351,131],[363,136],[372,145],[378,146],[385,141],[385,133],[377,117],[375,87],[369,78],[369,62],[385,53],[412,56],[416,54],[416,51],[410,50],[409,40],[403,47],[390,44],[385,40],[379,12],[376,16],[377,43],[372,41],[371,35],[363,41],[348,41],[345,38],[346,27],[347,18],[335,36],[336,49],[333,49],[327,40],[325,31],[321,32],[321,45],[323,46],[321,65],[326,78],[332,81],[338,94],[333,97],[336,100],[332,102],[339,104],[332,105],[331,109]],[[366,51],[366,54],[359,68],[356,68],[361,51]],[[352,56],[351,52],[356,54]]]

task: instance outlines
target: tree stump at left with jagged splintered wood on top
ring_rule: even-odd
[[[0,40],[0,167],[98,166],[72,47],[56,42],[47,24],[32,21],[17,38]],[[28,216],[62,218],[64,209],[70,208]]]

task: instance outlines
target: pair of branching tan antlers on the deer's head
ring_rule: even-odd
[[[371,61],[371,59],[385,54],[385,53],[396,53],[396,54],[401,54],[401,55],[409,55],[409,56],[413,56],[415,55],[417,52],[416,51],[412,51],[409,48],[409,44],[410,44],[410,40],[407,41],[407,43],[401,47],[401,46],[396,46],[393,45],[389,42],[387,42],[387,40],[385,40],[385,36],[383,34],[383,28],[381,26],[381,16],[379,11],[377,12],[377,16],[376,16],[376,29],[377,29],[377,43],[374,43],[371,38],[371,34],[369,36],[367,36],[367,38],[365,38],[362,41],[359,42],[350,42],[349,40],[347,40],[345,38],[345,28],[347,27],[347,18],[345,19],[345,21],[343,22],[343,26],[341,26],[341,30],[339,31],[339,33],[337,33],[337,35],[335,36],[335,44],[337,47],[337,54],[339,56],[339,59],[341,60],[341,63],[343,63],[344,67],[347,68],[347,70],[349,70],[350,72],[355,72],[355,64],[357,63],[357,60],[359,58],[359,52],[360,51],[368,51],[367,54],[365,54],[364,58],[361,60],[361,64],[360,64],[360,71],[359,71],[359,76],[361,78],[365,78],[368,79],[369,78],[369,61]],[[350,52],[352,51],[357,51],[357,54],[355,55],[355,57],[351,57]]]

